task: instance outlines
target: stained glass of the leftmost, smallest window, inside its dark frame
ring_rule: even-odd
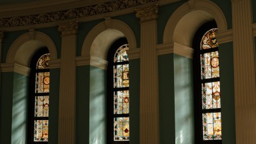
[[[35,65],[31,65],[34,75],[33,98],[33,141],[32,143],[47,143],[48,141],[48,125],[49,125],[49,92],[50,92],[50,72],[49,60],[50,54],[45,53],[34,59],[37,60]],[[31,121],[32,122],[32,121]]]

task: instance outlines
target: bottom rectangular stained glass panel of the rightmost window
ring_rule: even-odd
[[[203,139],[221,138],[221,113],[203,113]]]

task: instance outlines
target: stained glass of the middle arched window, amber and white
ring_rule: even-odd
[[[129,58],[128,45],[121,45],[113,58],[113,137],[129,141]]]

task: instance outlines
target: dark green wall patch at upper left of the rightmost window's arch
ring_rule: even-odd
[[[176,3],[172,3],[171,5],[163,5],[158,10],[158,23],[157,23],[157,37],[158,37],[158,44],[163,43],[163,32],[165,31],[165,26],[167,21],[173,14],[173,12],[179,8],[183,3],[187,2],[187,0],[181,0]],[[172,37],[172,35],[170,36]]]

